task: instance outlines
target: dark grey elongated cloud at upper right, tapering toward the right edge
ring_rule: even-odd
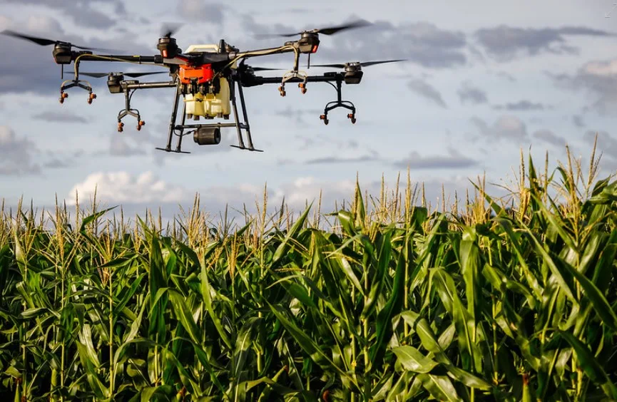
[[[566,36],[614,36],[613,33],[577,26],[554,28],[518,28],[500,25],[479,29],[474,34],[486,53],[497,61],[540,53],[578,54],[578,48],[566,43]]]

